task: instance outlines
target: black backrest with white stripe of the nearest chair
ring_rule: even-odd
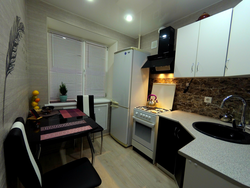
[[[16,121],[4,141],[6,169],[10,168],[25,188],[41,188],[41,173],[31,153],[23,122],[23,119]]]

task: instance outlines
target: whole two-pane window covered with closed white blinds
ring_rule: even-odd
[[[106,47],[49,34],[51,61],[50,101],[59,100],[59,85],[65,83],[68,99],[88,94],[105,96]]]

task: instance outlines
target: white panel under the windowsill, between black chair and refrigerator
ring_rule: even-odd
[[[102,126],[104,130],[108,128],[109,104],[95,104],[96,122]]]

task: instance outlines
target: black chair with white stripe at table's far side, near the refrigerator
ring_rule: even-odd
[[[95,111],[94,111],[94,95],[78,95],[77,96],[77,108],[92,118],[94,121],[95,118]],[[98,128],[91,131],[93,135],[94,141],[94,134],[97,132],[101,132],[101,150],[100,154],[102,154],[102,146],[103,146],[103,128],[99,126]]]

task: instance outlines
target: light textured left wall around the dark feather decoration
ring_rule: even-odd
[[[17,58],[12,73],[7,77],[6,89],[4,80],[6,75],[6,55],[9,44],[10,29],[16,16],[21,18],[25,27],[25,34],[18,45]],[[0,188],[7,187],[3,141],[16,117],[26,119],[29,109],[28,87],[29,66],[27,63],[27,20],[25,0],[0,1]],[[5,92],[5,104],[3,97]],[[4,112],[4,113],[3,113]],[[3,122],[4,116],[4,122]]]

